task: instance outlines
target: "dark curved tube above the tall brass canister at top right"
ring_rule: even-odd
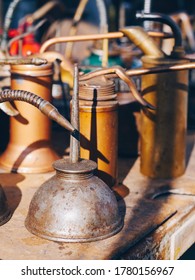
[[[145,13],[138,12],[136,13],[136,18],[140,20],[157,21],[157,22],[167,24],[173,32],[174,39],[175,39],[175,47],[182,46],[182,36],[181,36],[179,26],[175,23],[175,21],[171,17],[160,13],[145,14]]]

